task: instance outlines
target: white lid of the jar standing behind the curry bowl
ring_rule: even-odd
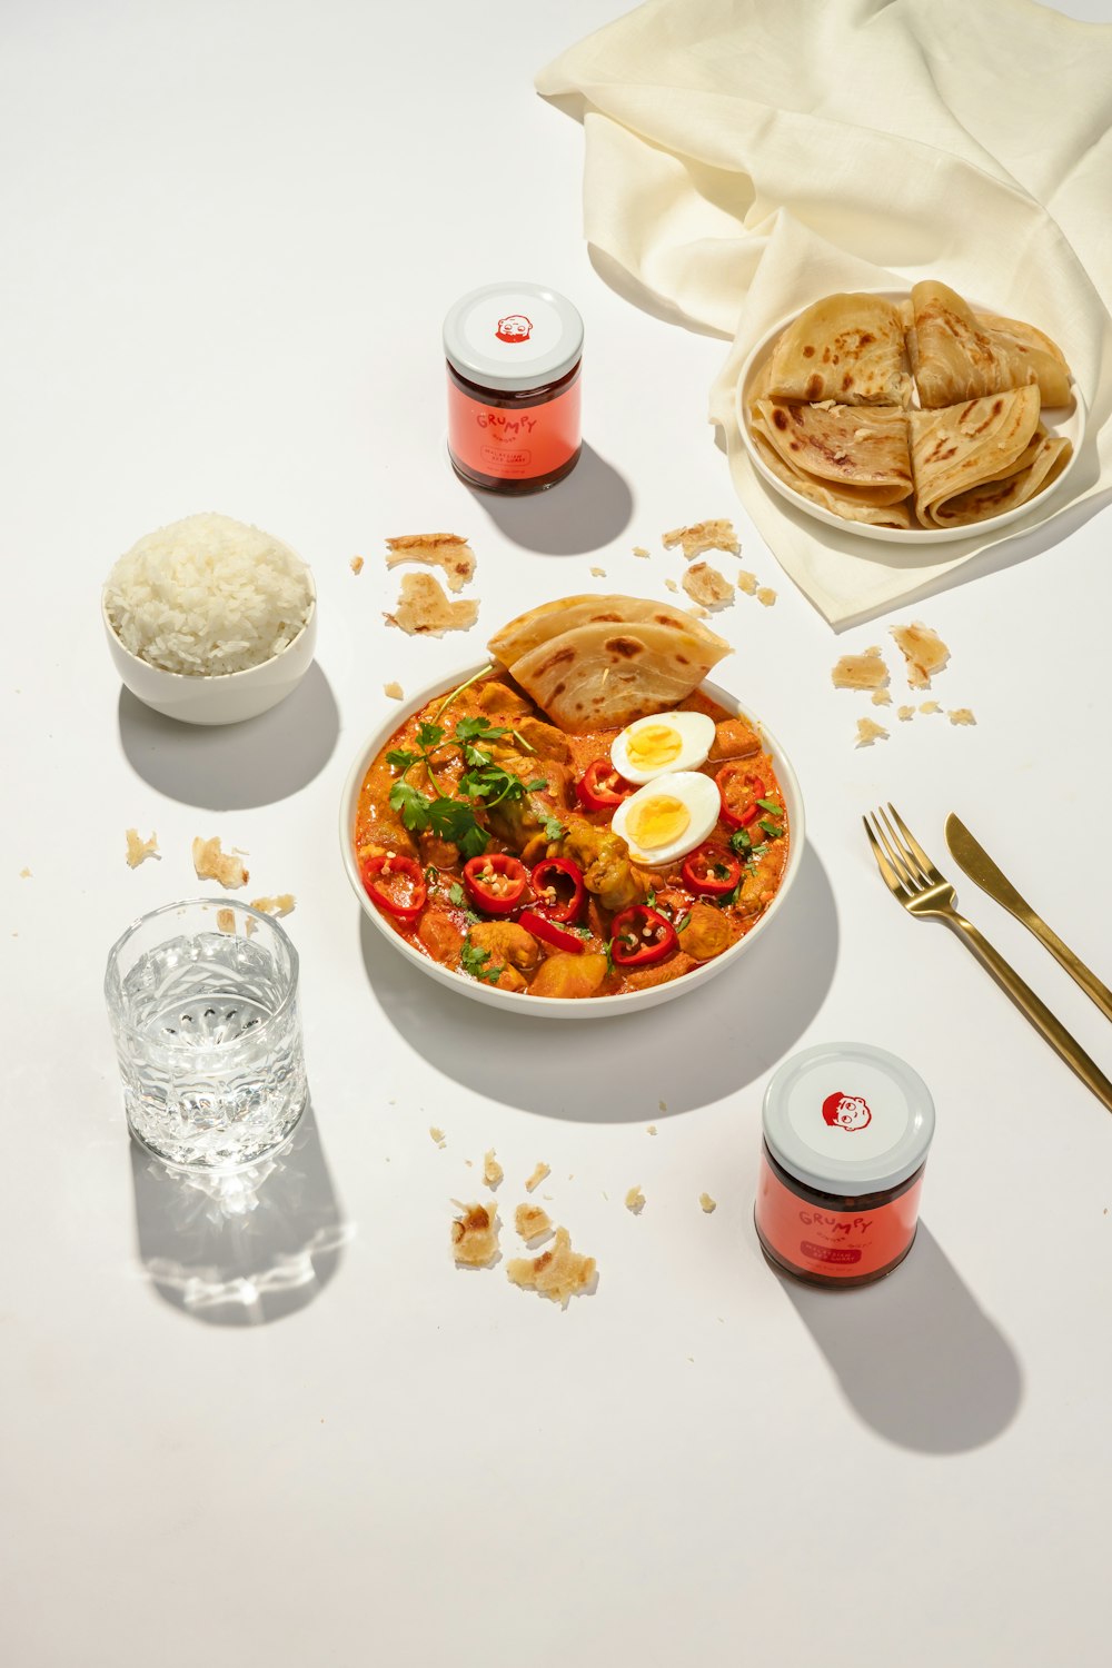
[[[485,389],[538,389],[579,362],[584,320],[542,284],[487,284],[450,309],[443,352],[453,370]]]

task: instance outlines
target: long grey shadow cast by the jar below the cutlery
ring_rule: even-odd
[[[1019,1358],[924,1223],[907,1261],[875,1286],[819,1291],[779,1278],[845,1399],[887,1441],[967,1453],[1015,1418]]]

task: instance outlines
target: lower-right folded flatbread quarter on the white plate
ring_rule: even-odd
[[[969,507],[972,494],[984,494],[989,485],[1009,482],[1035,465],[1039,449],[1032,449],[1032,440],[1039,429],[1039,389],[1034,384],[940,410],[910,412],[909,417],[915,510],[927,527],[960,522],[965,519],[960,505]],[[1065,464],[1060,449],[1052,455],[1044,452],[1042,459],[1045,467],[1040,464],[1039,484],[1055,460],[1059,469]],[[1030,487],[1034,490],[1037,487]],[[982,502],[992,499],[994,494],[989,494]],[[1014,502],[1022,504],[1024,499]],[[995,515],[999,507],[1009,505],[984,509],[975,519]]]

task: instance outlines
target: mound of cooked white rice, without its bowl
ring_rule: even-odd
[[[167,672],[220,677],[273,659],[308,619],[313,585],[292,550],[230,515],[148,532],[108,574],[120,642]]]

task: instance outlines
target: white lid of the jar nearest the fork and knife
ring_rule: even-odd
[[[772,1156],[819,1193],[882,1193],[919,1169],[934,1101],[917,1071],[870,1042],[825,1042],[785,1059],[765,1089]]]

